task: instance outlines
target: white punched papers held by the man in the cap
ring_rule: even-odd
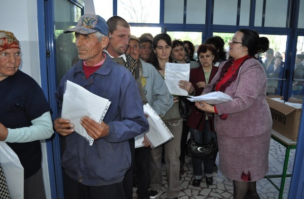
[[[80,118],[86,115],[100,123],[110,103],[108,99],[99,97],[67,80],[63,94],[61,117],[69,120],[74,125],[75,132],[86,138],[92,146],[94,139],[80,124]]]

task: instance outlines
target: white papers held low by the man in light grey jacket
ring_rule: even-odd
[[[149,104],[146,103],[143,105],[143,112],[148,115],[147,120],[149,123],[149,130],[145,132],[145,135],[153,147],[157,147],[174,137],[160,116]],[[141,134],[135,137],[136,148],[143,146],[143,135],[144,134]]]

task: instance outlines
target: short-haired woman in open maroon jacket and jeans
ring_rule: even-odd
[[[198,47],[198,57],[200,67],[193,68],[190,71],[189,82],[181,81],[181,88],[188,90],[190,94],[198,96],[204,88],[211,82],[217,73],[218,67],[213,64],[217,62],[217,50],[213,45],[200,45]],[[189,88],[189,89],[188,89]],[[191,114],[187,118],[187,126],[190,127],[191,136],[195,133],[195,140],[200,144],[207,144],[211,137],[215,138],[216,134],[213,129],[214,116],[206,116],[204,111],[196,108],[195,103],[191,103]],[[216,147],[217,148],[217,147]],[[215,151],[217,153],[217,150]],[[204,160],[204,174],[206,183],[213,184],[212,167],[215,162],[216,155],[212,159]],[[203,179],[202,160],[192,157],[194,180],[193,186],[200,186]]]

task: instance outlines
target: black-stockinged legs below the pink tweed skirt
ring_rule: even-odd
[[[256,192],[256,182],[233,181],[234,199],[260,199]]]

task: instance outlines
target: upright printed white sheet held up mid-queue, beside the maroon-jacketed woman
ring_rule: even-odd
[[[185,80],[189,82],[190,64],[166,63],[165,83],[172,95],[187,96],[188,92],[179,88],[178,82]]]

